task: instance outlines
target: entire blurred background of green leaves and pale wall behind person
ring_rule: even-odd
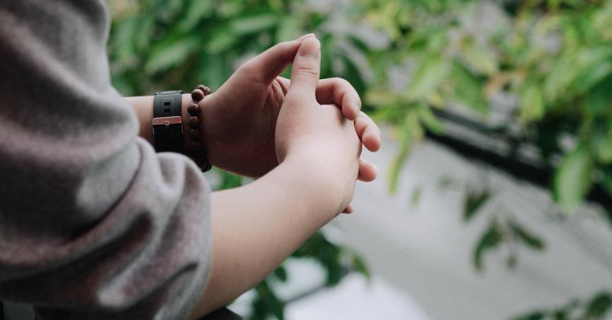
[[[383,128],[356,213],[238,314],[612,319],[612,0],[107,1],[126,96],[215,90],[315,32],[322,77],[350,81]]]

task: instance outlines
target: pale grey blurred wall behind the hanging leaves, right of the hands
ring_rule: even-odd
[[[395,144],[387,139],[381,152],[365,157],[386,168],[396,155]],[[333,223],[374,273],[414,297],[431,319],[508,319],[612,290],[612,228],[593,211],[552,219],[546,190],[492,171],[488,176],[498,196],[474,221],[463,223],[464,191],[440,190],[439,180],[477,182],[485,168],[425,143],[408,160],[395,195],[388,193],[383,169],[376,182],[358,185],[356,213]],[[417,186],[422,197],[412,207]],[[477,273],[472,250],[500,206],[541,235],[546,250],[521,250],[515,270],[506,269],[506,250],[497,250]]]

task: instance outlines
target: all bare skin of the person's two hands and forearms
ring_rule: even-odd
[[[291,80],[279,78],[292,62]],[[257,285],[318,228],[353,211],[358,178],[376,178],[376,167],[360,160],[360,152],[362,144],[379,149],[379,129],[360,113],[353,87],[319,80],[319,68],[320,44],[309,35],[248,61],[200,101],[211,163],[259,178],[212,194],[214,259],[190,319]],[[142,137],[151,141],[152,97],[128,100]]]

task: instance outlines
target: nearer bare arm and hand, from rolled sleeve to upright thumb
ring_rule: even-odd
[[[281,164],[250,185],[213,194],[213,266],[192,319],[257,285],[353,197],[359,138],[336,106],[314,99],[319,42],[305,41],[300,53],[276,122]]]

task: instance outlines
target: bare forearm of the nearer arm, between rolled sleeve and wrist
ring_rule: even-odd
[[[328,176],[295,157],[250,185],[213,193],[212,272],[192,319],[257,285],[338,214],[341,199]]]

